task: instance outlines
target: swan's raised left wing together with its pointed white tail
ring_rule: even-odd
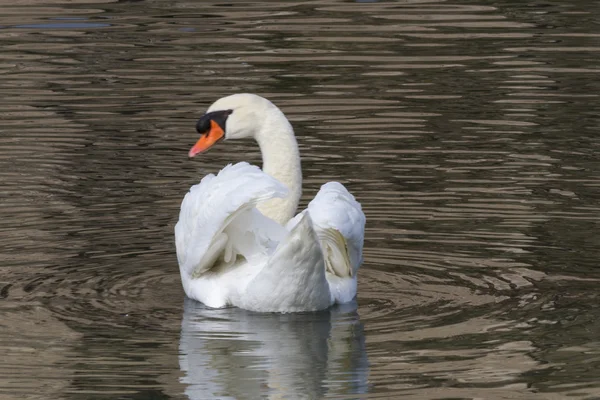
[[[210,307],[254,311],[321,310],[332,304],[310,216],[288,232],[254,207],[285,193],[282,184],[247,163],[228,165],[191,188],[175,226],[188,297]]]

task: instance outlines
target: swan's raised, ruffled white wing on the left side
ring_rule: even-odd
[[[182,278],[197,278],[215,266],[227,268],[238,254],[251,258],[261,250],[257,242],[268,247],[278,234],[277,224],[255,206],[286,195],[284,185],[246,162],[228,165],[192,186],[175,225]]]

